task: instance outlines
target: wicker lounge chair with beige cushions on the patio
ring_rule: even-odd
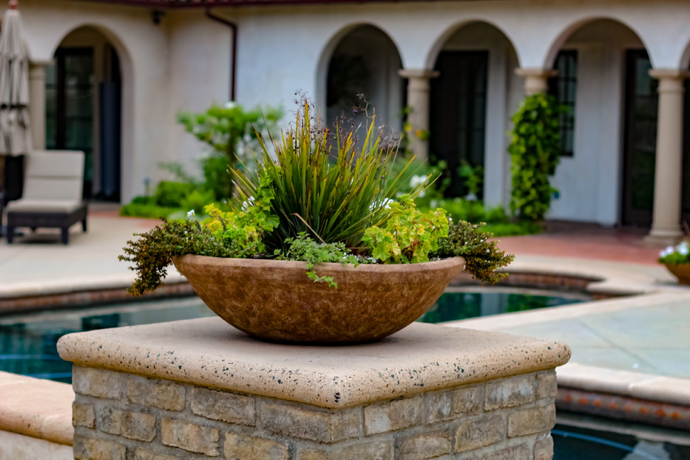
[[[59,228],[63,244],[69,243],[73,224],[82,222],[86,231],[83,175],[84,152],[36,151],[26,155],[23,197],[7,205],[7,242],[13,242],[17,227]]]

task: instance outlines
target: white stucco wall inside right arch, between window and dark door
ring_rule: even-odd
[[[574,155],[562,157],[553,185],[553,219],[618,222],[623,149],[626,49],[641,49],[634,32],[611,20],[575,31],[563,49],[578,52]]]

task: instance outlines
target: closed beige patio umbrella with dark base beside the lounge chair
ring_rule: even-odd
[[[17,1],[10,0],[0,29],[0,222],[8,199],[22,195],[29,132],[29,52]],[[7,158],[11,157],[11,158]],[[5,233],[0,226],[0,233]]]

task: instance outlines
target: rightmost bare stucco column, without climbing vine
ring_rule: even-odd
[[[688,72],[652,69],[659,79],[657,118],[657,162],[654,169],[654,214],[652,230],[645,239],[650,245],[673,244],[682,237],[680,229],[683,177],[684,79]]]

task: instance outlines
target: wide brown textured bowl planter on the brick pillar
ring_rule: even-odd
[[[454,257],[316,266],[318,275],[335,278],[334,289],[307,278],[304,262],[193,255],[173,262],[201,300],[236,328],[261,339],[315,344],[366,342],[401,330],[436,302],[465,265]]]

